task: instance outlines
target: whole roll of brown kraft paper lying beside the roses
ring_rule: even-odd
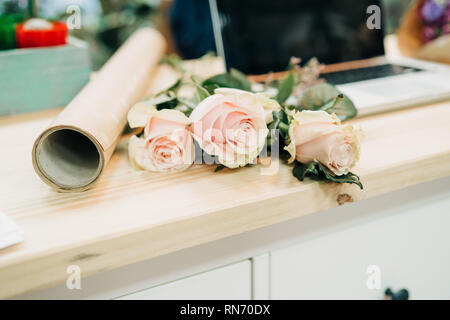
[[[59,191],[88,189],[102,173],[125,127],[130,107],[143,98],[165,40],[136,31],[37,138],[33,166]]]

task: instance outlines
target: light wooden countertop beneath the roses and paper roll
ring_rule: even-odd
[[[366,133],[354,185],[299,182],[292,167],[214,173],[133,170],[123,139],[99,183],[57,193],[34,173],[31,147],[58,110],[0,118],[0,208],[25,241],[0,251],[0,297],[90,275],[450,175],[450,101],[354,119]],[[340,197],[349,198],[349,197]]]

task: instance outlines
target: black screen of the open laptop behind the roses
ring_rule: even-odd
[[[219,54],[248,74],[285,70],[292,56],[328,64],[383,55],[382,30],[366,25],[379,2],[210,0]]]

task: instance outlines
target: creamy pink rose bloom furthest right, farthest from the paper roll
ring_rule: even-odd
[[[335,175],[347,174],[359,160],[362,132],[325,111],[302,111],[293,115],[289,142],[290,162],[319,162]]]

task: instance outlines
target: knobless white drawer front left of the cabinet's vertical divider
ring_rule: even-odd
[[[245,260],[118,299],[251,299],[251,262]]]

